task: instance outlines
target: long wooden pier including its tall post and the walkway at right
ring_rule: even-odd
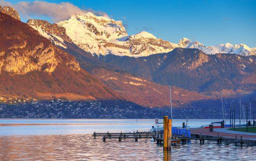
[[[200,141],[200,144],[204,144],[205,141],[216,141],[217,144],[225,143],[235,143],[240,144],[252,144],[256,145],[256,136],[251,135],[235,135],[227,133],[216,133],[209,132],[209,129],[193,129],[191,137],[186,137],[183,135],[172,135],[172,120],[168,119],[167,116],[164,117],[164,131],[157,132],[132,132],[132,133],[96,133],[94,132],[92,136],[94,139],[100,136],[102,137],[103,142],[106,142],[107,139],[118,139],[121,142],[123,139],[134,139],[135,142],[138,142],[142,138],[152,138],[152,141],[157,144],[163,145],[164,150],[171,150],[171,146],[175,144],[186,144],[192,140]],[[165,137],[167,136],[167,137]],[[239,137],[239,138],[238,138]]]

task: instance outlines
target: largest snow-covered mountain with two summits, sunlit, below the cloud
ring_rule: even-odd
[[[172,51],[177,45],[142,31],[128,36],[121,21],[88,12],[57,23],[66,29],[73,43],[92,54],[147,56]]]

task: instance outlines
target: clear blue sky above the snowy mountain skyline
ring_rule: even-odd
[[[106,12],[110,18],[122,20],[129,35],[144,30],[173,43],[186,37],[204,45],[229,42],[256,47],[256,0],[45,1],[70,2],[81,9]],[[31,17],[50,20],[46,16]]]

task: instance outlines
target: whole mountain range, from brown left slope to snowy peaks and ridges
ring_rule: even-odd
[[[14,9],[0,9],[1,95],[164,107],[172,85],[173,105],[184,107],[219,99],[218,92],[256,90],[256,49],[244,44],[175,44],[146,31],[129,36],[121,21],[90,12],[25,24]]]

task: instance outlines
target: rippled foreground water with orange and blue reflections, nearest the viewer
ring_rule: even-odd
[[[162,160],[163,147],[151,142],[151,139],[107,139],[102,142],[101,137],[93,139],[91,134],[68,135],[30,135],[30,136],[0,136],[0,160]],[[199,141],[191,144],[173,146],[169,155],[171,159],[188,160],[254,160],[256,159],[254,146],[235,146],[234,144],[220,144]]]

